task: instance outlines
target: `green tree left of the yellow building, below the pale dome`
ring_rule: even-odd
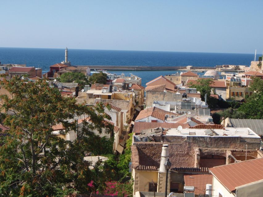
[[[205,94],[207,94],[207,98],[210,97],[212,90],[212,87],[210,86],[211,83],[212,79],[201,78],[197,79],[195,83],[190,82],[189,86],[196,88],[196,90],[200,92],[202,100],[204,100]]]

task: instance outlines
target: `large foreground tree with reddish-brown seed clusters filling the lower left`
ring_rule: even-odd
[[[2,76],[4,77],[4,76]],[[6,196],[64,196],[73,191],[88,193],[87,184],[94,180],[96,188],[103,186],[101,162],[89,168],[84,161],[90,151],[88,144],[96,144],[96,129],[113,131],[105,106],[76,104],[74,98],[64,98],[58,89],[41,79],[36,82],[2,78],[1,86],[12,98],[0,95],[3,123],[10,129],[0,138],[0,193]],[[106,106],[109,108],[109,106]],[[77,117],[85,115],[92,123],[77,127]],[[55,134],[55,125],[62,129]],[[59,135],[76,132],[76,140],[67,141]],[[99,144],[99,142],[98,142]]]

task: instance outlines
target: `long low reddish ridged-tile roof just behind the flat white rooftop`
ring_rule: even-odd
[[[183,129],[189,128],[187,123],[147,123],[147,122],[135,122],[133,132],[140,133],[142,130],[154,129],[157,127],[162,127],[165,129],[176,129],[179,126],[182,126]]]

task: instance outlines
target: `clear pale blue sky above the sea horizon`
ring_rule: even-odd
[[[1,1],[0,46],[263,51],[263,1]]]

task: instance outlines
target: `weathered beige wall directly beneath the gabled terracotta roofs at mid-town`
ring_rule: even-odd
[[[149,92],[146,91],[146,106],[151,107],[154,101],[182,101],[182,94],[172,92]]]

